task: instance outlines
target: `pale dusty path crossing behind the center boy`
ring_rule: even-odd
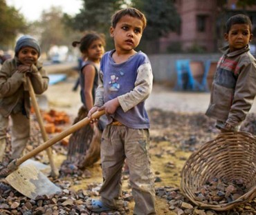
[[[64,82],[50,85],[46,91],[49,107],[76,114],[81,105],[80,92],[73,92],[73,84],[77,76],[69,76]],[[185,113],[204,113],[210,101],[210,92],[175,92],[171,88],[155,83],[152,94],[146,101],[147,109]],[[256,112],[256,101],[250,112]]]

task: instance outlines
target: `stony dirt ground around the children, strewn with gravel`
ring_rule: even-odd
[[[48,110],[65,112],[70,121],[60,125],[60,128],[62,130],[68,129],[81,106],[79,90],[76,92],[72,90],[77,79],[77,72],[70,67],[68,69],[65,66],[62,68],[62,65],[53,65],[51,69],[46,69],[50,74],[64,73],[67,78],[60,83],[50,85],[42,96],[38,96],[39,106],[46,112]],[[209,100],[210,92],[174,92],[168,85],[154,83],[152,94],[146,101],[151,122],[149,153],[152,160],[152,170],[156,178],[156,213],[158,215],[253,215],[256,213],[256,199],[253,203],[241,205],[241,207],[228,212],[199,210],[192,205],[186,205],[187,208],[181,207],[182,203],[190,203],[181,194],[181,172],[185,161],[188,160],[192,152],[219,134],[219,131],[214,127],[214,121],[208,119],[204,114]],[[256,110],[255,103],[251,110],[252,115],[246,120],[243,127],[245,131],[254,135],[256,135],[256,116],[253,114]],[[34,119],[33,126],[31,126],[33,135],[30,137],[27,151],[31,151],[37,145],[42,144],[42,135],[39,132],[35,116],[32,119]],[[49,134],[48,138],[55,135],[57,133]],[[84,201],[88,196],[99,198],[98,190],[102,183],[100,161],[86,168],[86,171],[82,172],[81,175],[81,172],[75,169],[74,165],[67,166],[66,170],[71,171],[71,173],[64,174],[67,173],[63,165],[63,162],[66,161],[67,149],[68,145],[66,144],[56,143],[53,145],[55,164],[60,170],[60,177],[53,182],[63,188],[64,194],[51,199],[52,207],[49,206],[48,196],[44,201],[40,199],[39,201],[30,201],[24,196],[20,196],[17,191],[10,190],[9,187],[0,183],[0,214],[89,214],[88,210],[84,209]],[[10,155],[10,141],[6,155]],[[7,159],[8,156],[6,156]],[[47,163],[45,152],[41,152],[35,158],[41,163]],[[125,214],[131,215],[133,214],[134,201],[127,174],[122,176],[122,191],[122,198],[128,201],[128,205],[124,207]],[[66,205],[63,205],[63,201]],[[34,209],[34,212],[31,208]],[[94,214],[92,213],[92,215]]]

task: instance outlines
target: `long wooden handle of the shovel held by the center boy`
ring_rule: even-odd
[[[92,119],[100,118],[100,116],[104,115],[104,113],[105,113],[104,110],[97,111],[97,112],[92,114],[91,118]],[[74,125],[72,125],[68,129],[61,132],[60,134],[57,134],[56,136],[53,136],[52,139],[49,139],[48,141],[46,141],[42,145],[37,146],[34,150],[28,152],[28,154],[25,154],[21,158],[17,159],[17,162],[15,163],[15,165],[17,165],[17,166],[21,165],[21,163],[24,163],[24,161],[26,161],[29,158],[35,156],[35,154],[38,154],[39,152],[42,152],[43,150],[46,150],[48,147],[50,147],[51,145],[54,145],[58,141],[64,139],[64,137],[68,136],[69,134],[72,134],[73,132],[79,130],[81,127],[84,127],[85,125],[88,125],[90,123],[90,121],[91,121],[91,119],[86,117],[86,118],[82,119],[81,121],[79,121],[78,123],[75,123]]]

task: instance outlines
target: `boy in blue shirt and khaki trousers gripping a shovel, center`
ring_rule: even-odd
[[[100,61],[100,83],[91,117],[105,110],[108,125],[101,143],[103,184],[100,200],[87,205],[92,212],[118,209],[122,167],[126,159],[134,196],[134,214],[156,214],[154,174],[149,158],[149,117],[145,100],[152,91],[152,67],[147,55],[134,49],[140,43],[146,18],[135,8],[113,14],[110,34],[115,49]]]

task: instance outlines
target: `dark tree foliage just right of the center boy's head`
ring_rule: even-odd
[[[173,0],[134,0],[133,6],[145,13],[147,28],[143,38],[158,39],[171,31],[178,31],[181,23]]]

